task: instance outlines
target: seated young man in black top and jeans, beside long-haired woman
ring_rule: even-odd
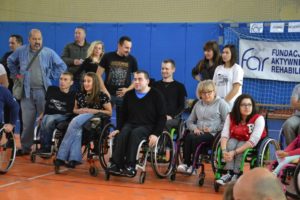
[[[72,115],[75,92],[70,91],[73,84],[73,74],[63,72],[59,78],[59,86],[49,86],[46,92],[45,111],[37,121],[40,123],[41,147],[37,153],[51,152],[51,139],[55,126]]]

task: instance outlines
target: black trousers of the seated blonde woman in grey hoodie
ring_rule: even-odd
[[[187,164],[188,166],[190,166],[192,164],[192,154],[195,153],[197,146],[202,143],[205,142],[206,143],[206,147],[209,147],[212,145],[214,141],[214,136],[210,133],[204,133],[202,135],[196,135],[194,133],[189,132],[186,137],[184,138],[184,144],[183,144],[183,160],[184,160],[184,164]],[[200,153],[204,153],[204,148],[202,148],[202,152]],[[194,155],[195,156],[195,155]]]

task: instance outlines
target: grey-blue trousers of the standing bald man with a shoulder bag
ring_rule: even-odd
[[[33,143],[33,132],[36,116],[44,112],[45,107],[45,90],[31,89],[30,97],[21,99],[23,131],[21,135],[21,145],[24,152],[31,151]]]

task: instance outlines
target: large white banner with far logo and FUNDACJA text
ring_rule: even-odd
[[[300,80],[300,42],[240,40],[239,60],[245,77]]]

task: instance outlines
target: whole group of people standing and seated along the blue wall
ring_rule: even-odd
[[[21,79],[24,85],[19,99],[23,127],[22,149],[18,155],[31,152],[36,116],[41,126],[39,151],[42,153],[50,151],[55,125],[72,116],[55,165],[74,168],[82,162],[83,124],[97,113],[111,116],[112,105],[115,105],[117,130],[110,137],[115,137],[116,148],[109,170],[132,176],[136,173],[135,153],[140,141],[148,138],[149,145],[153,146],[164,129],[178,127],[178,116],[185,108],[187,92],[182,83],[174,80],[176,65],[172,59],[162,61],[162,80],[150,85],[149,74],[138,69],[136,58],[130,54],[132,41],[127,36],[120,37],[116,51],[105,53],[103,42],[89,44],[85,29],[77,27],[75,41],[65,46],[61,57],[43,46],[42,33],[38,29],[30,31],[28,41],[29,44],[21,46],[22,39],[12,35],[9,39],[12,52],[3,58],[6,70],[0,66],[1,90],[5,87],[11,90],[16,79]],[[186,122],[189,134],[184,139],[183,163],[178,166],[178,171],[191,172],[197,145],[201,142],[211,145],[216,134],[221,132],[221,148],[228,173],[217,182],[225,184],[236,180],[240,175],[243,152],[254,148],[266,136],[265,121],[257,113],[254,99],[242,94],[244,72],[236,61],[237,52],[233,45],[224,46],[221,55],[215,41],[204,45],[204,59],[192,70],[192,76],[199,81],[198,101]],[[52,86],[58,78],[59,86]],[[292,100],[297,109],[299,88],[294,89]],[[5,99],[12,99],[9,92],[1,94]],[[19,110],[14,106],[15,101],[5,99],[3,102],[8,103],[4,110],[9,113],[5,114],[6,129],[12,131]],[[299,127],[296,120],[299,120],[297,113],[286,122],[293,126],[287,127],[297,124]],[[297,135],[290,135],[287,128],[285,131],[287,142]],[[296,131],[293,128],[293,132]],[[278,155],[280,157],[282,153]]]

